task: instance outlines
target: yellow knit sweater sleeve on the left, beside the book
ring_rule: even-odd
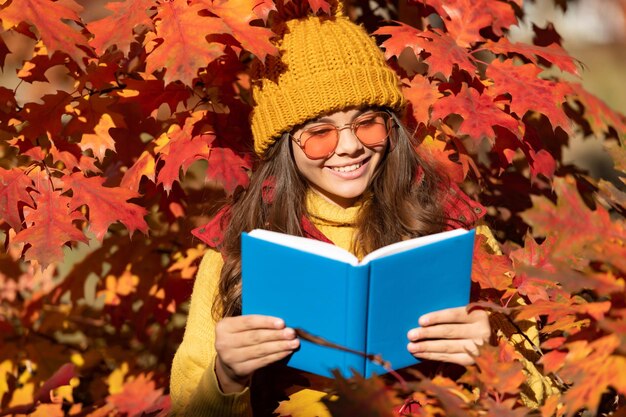
[[[209,250],[196,276],[183,341],[170,376],[173,416],[251,416],[250,389],[224,394],[215,375],[215,321],[211,314],[223,261]]]

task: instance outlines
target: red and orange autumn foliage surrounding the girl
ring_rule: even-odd
[[[538,319],[538,366],[563,391],[525,408],[521,365],[501,344],[459,383],[339,378],[333,413],[393,415],[407,399],[420,415],[624,413],[624,117],[579,87],[580,64],[550,27],[534,30],[534,46],[506,41],[522,0],[346,3],[351,18],[383,26],[412,100],[407,122],[433,138],[421,151],[488,207],[504,255],[477,255],[482,305]],[[0,67],[20,79],[0,87],[1,415],[167,412],[204,252],[190,230],[245,186],[254,160],[250,66],[275,53],[282,19],[330,10],[323,0],[97,5],[0,6]],[[601,144],[602,169],[564,161],[575,138]]]

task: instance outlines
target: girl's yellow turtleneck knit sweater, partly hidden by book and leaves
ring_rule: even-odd
[[[315,193],[309,193],[307,210],[313,224],[333,243],[346,250],[351,249],[355,228],[353,226],[359,206],[342,209]],[[486,227],[479,227],[479,233],[493,241]],[[361,254],[356,254],[357,256]],[[215,321],[211,307],[217,293],[223,261],[214,251],[204,256],[196,277],[191,296],[191,305],[183,341],[176,352],[172,364],[170,391],[172,415],[175,416],[251,416],[250,389],[240,393],[221,392],[215,376]],[[522,353],[530,352],[530,346],[506,322],[492,320],[498,331],[509,337],[511,343]],[[536,328],[530,326],[527,335],[537,340]],[[524,400],[529,406],[537,406],[554,388],[550,381],[541,377],[532,362],[527,361],[528,376]],[[278,410],[281,415],[292,417],[328,416],[329,413],[319,402],[324,393],[302,389],[293,393],[289,401],[284,401]]]

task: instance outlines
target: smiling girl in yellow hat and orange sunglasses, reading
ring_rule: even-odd
[[[240,315],[242,232],[331,241],[362,257],[469,226],[484,211],[420,158],[397,116],[405,98],[396,75],[360,26],[343,16],[292,20],[278,45],[280,59],[253,87],[260,163],[251,184],[197,233],[213,250],[200,265],[172,367],[177,415],[271,415],[286,399],[281,407],[308,401],[315,405],[306,415],[328,414],[317,403],[322,393],[300,389],[315,381],[277,364],[298,348],[294,330],[279,317]],[[479,310],[447,309],[415,322],[409,352],[458,365],[472,364],[492,333]]]

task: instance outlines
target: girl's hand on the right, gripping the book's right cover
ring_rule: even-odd
[[[491,336],[489,316],[483,310],[467,312],[465,307],[424,314],[421,327],[407,333],[409,352],[419,359],[472,365],[472,355]]]

